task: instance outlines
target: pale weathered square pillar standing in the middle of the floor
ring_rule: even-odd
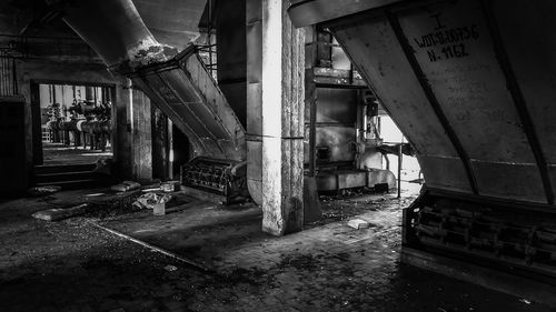
[[[292,28],[288,3],[249,1],[247,14],[248,44],[258,44],[251,37],[260,33],[261,38],[260,82],[254,83],[248,72],[249,101],[251,97],[261,99],[259,110],[251,111],[248,102],[248,151],[257,161],[259,154],[254,150],[260,142],[262,230],[275,235],[300,231],[304,224],[305,34]],[[249,53],[256,49],[248,47]],[[248,64],[256,60],[248,54]],[[250,128],[249,121],[257,128]]]

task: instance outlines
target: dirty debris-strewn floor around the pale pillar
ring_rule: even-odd
[[[400,209],[411,197],[322,198],[322,221],[284,238],[261,233],[260,212],[250,205],[193,202],[165,217],[138,211],[61,222],[30,218],[95,192],[0,203],[0,311],[555,311],[400,264]],[[354,217],[373,227],[348,228]]]

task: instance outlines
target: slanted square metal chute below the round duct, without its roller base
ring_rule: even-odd
[[[192,46],[131,78],[186,133],[196,155],[246,159],[245,130]]]

